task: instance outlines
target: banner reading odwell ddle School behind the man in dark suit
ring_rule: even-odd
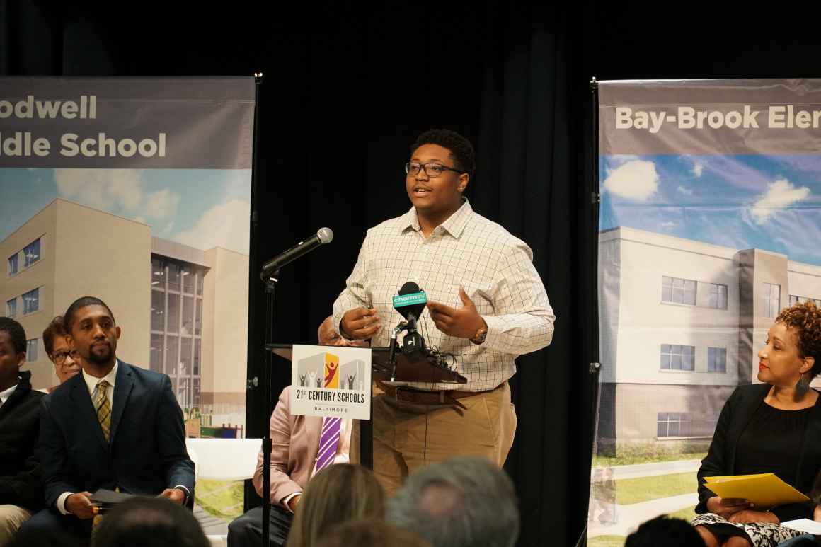
[[[34,388],[49,321],[98,296],[190,436],[244,436],[254,108],[250,77],[0,78],[0,313]]]

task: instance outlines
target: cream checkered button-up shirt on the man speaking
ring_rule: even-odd
[[[368,230],[346,288],[333,304],[337,328],[345,312],[376,308],[382,329],[371,340],[387,347],[390,333],[402,317],[392,297],[413,281],[428,301],[460,308],[459,287],[474,301],[488,324],[488,337],[476,345],[436,329],[425,309],[418,329],[428,347],[456,356],[456,371],[466,385],[410,384],[421,389],[493,389],[516,374],[513,361],[523,353],[547,346],[556,316],[550,307],[533,251],[497,223],[474,213],[467,200],[429,237],[422,234],[416,211],[391,218]],[[464,355],[463,355],[464,354]]]

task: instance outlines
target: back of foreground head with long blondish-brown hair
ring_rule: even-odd
[[[385,492],[373,471],[350,463],[326,467],[305,487],[287,547],[314,547],[344,522],[382,518],[384,513]]]

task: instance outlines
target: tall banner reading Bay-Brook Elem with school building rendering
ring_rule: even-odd
[[[589,545],[692,514],[773,319],[821,304],[821,80],[600,82],[599,179]]]

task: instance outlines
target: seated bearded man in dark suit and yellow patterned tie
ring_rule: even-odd
[[[193,507],[194,464],[167,375],[117,360],[121,330],[99,298],[80,298],[64,319],[83,370],[44,398],[37,454],[48,509],[21,537],[88,541],[96,513],[89,498],[101,488]]]

